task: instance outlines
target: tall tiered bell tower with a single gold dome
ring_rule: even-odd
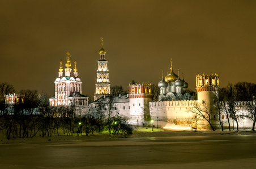
[[[98,60],[97,81],[95,83],[94,100],[102,96],[110,95],[110,82],[108,61],[105,60],[106,51],[103,48],[103,38],[101,37],[101,49],[99,51],[100,60]]]

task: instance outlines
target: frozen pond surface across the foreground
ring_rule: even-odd
[[[256,168],[256,136],[0,145],[0,168]]]

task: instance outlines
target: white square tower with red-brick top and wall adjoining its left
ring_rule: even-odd
[[[112,104],[114,112],[129,117],[131,124],[142,124],[144,112],[147,111],[150,114],[151,90],[151,84],[129,84],[128,95],[103,96],[90,103],[89,106],[92,111],[97,111],[97,105],[104,104],[105,112],[108,113],[108,106]]]

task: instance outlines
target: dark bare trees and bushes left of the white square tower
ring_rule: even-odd
[[[82,110],[85,113],[81,115],[79,112],[83,107],[50,106],[48,95],[38,94],[36,90],[20,91],[25,95],[24,103],[6,104],[5,95],[14,92],[11,84],[0,83],[0,132],[7,139],[36,135],[93,135],[104,130],[109,134],[132,134],[127,118],[114,114],[113,103]]]

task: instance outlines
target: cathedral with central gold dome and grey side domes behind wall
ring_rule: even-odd
[[[175,74],[173,72],[172,60],[170,66],[170,73],[158,83],[160,88],[159,101],[167,100],[192,100],[189,93],[186,92],[186,88],[189,84],[180,79],[180,73]],[[178,71],[180,72],[180,71]]]

